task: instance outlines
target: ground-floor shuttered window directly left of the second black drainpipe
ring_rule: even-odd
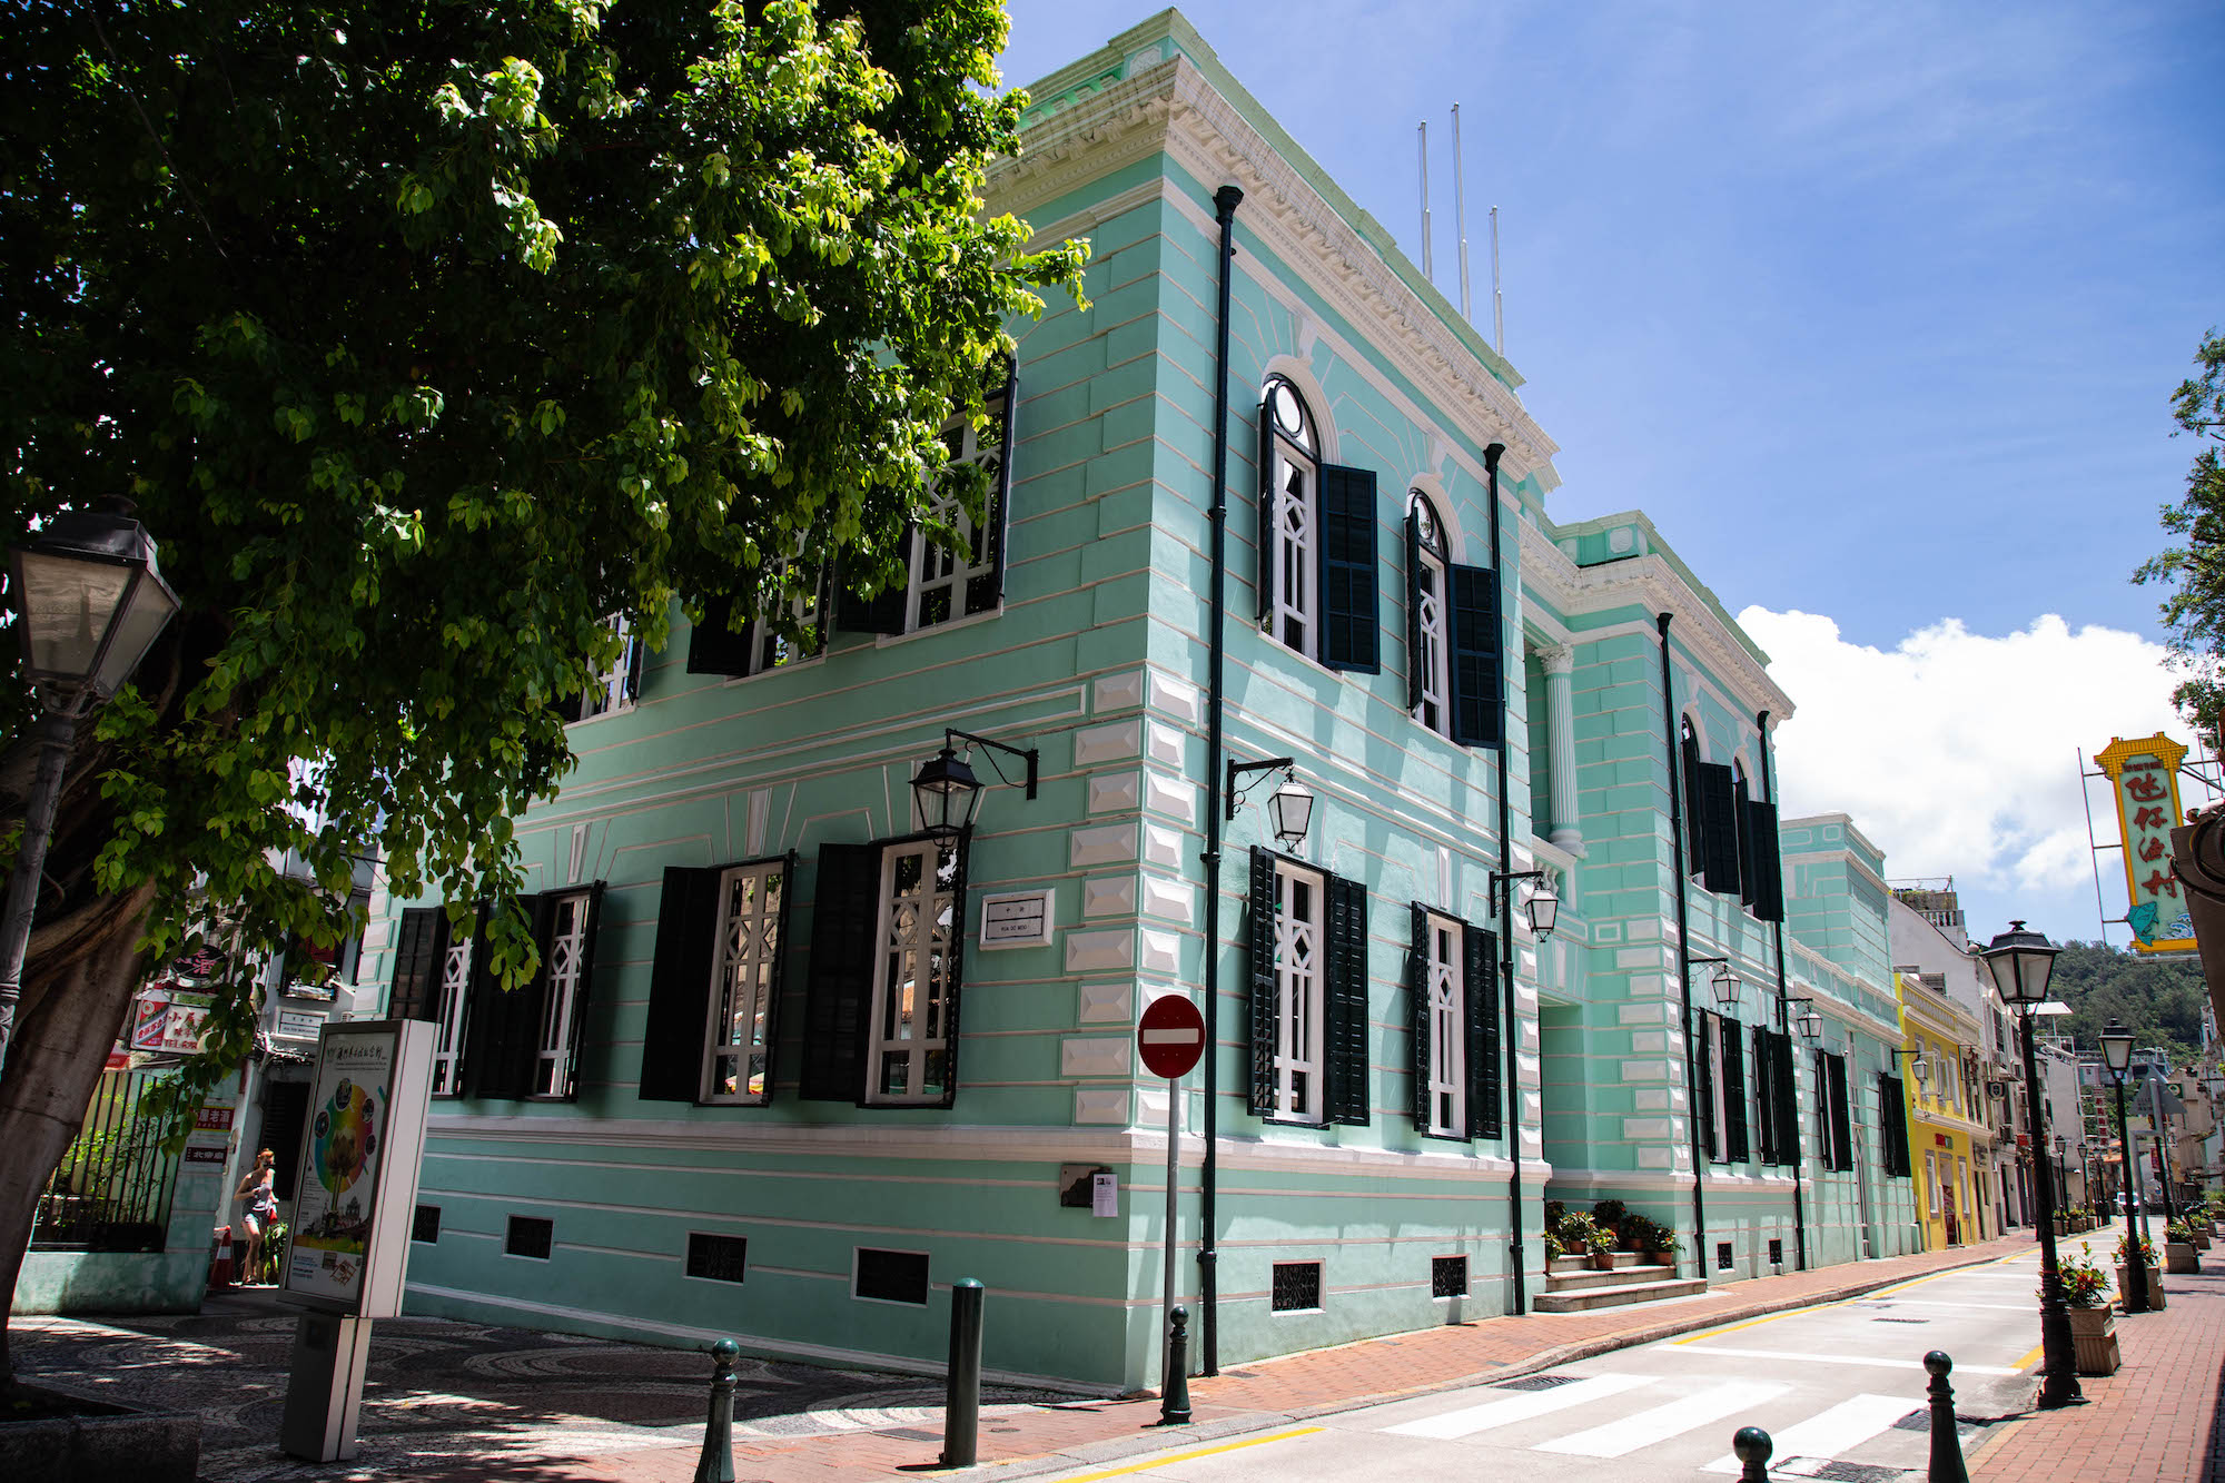
[[[1500,1136],[1497,937],[1413,904],[1413,1124],[1431,1138]]]

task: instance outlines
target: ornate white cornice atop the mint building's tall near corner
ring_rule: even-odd
[[[992,209],[1028,212],[1092,178],[1166,151],[1202,183],[1244,191],[1242,225],[1386,354],[1475,441],[1504,443],[1511,479],[1558,483],[1558,443],[1477,363],[1299,169],[1184,56],[1146,67],[1032,125],[1017,158],[990,167]]]

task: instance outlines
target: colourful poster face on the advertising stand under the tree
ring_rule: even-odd
[[[327,1033],[303,1129],[300,1194],[285,1289],[354,1305],[378,1205],[380,1140],[394,1107],[394,1035]]]

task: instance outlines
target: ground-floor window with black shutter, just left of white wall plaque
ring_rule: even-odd
[[[819,851],[803,1096],[950,1107],[959,1084],[966,835]]]

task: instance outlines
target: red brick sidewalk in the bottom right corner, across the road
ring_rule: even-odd
[[[2201,1274],[2167,1276],[2169,1307],[2116,1320],[2125,1358],[2080,1376],[2087,1405],[2036,1412],[1969,1459],[1978,1483],[2221,1483],[2218,1387],[2225,1378],[2225,1251]]]

